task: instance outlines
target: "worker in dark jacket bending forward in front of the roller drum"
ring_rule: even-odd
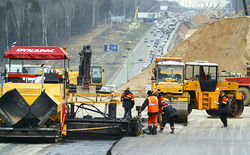
[[[172,105],[164,102],[161,105],[160,111],[161,111],[161,115],[162,115],[162,122],[161,122],[160,131],[163,132],[165,125],[167,124],[167,122],[169,122],[170,129],[171,129],[170,133],[173,134],[174,129],[175,129],[174,123],[175,123],[175,119],[177,117],[177,112],[176,112],[175,108]]]

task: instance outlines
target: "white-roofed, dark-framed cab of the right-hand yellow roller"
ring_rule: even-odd
[[[186,80],[198,80],[201,91],[215,91],[218,81],[218,65],[207,61],[187,62],[185,67]]]

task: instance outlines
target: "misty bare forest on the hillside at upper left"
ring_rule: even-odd
[[[0,60],[13,45],[53,46],[110,22],[130,17],[155,0],[0,0]]]

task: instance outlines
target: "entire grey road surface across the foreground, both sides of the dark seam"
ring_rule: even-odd
[[[140,105],[142,101],[137,101]],[[136,115],[135,108],[133,116]],[[119,114],[123,110],[119,108]],[[146,110],[143,118],[147,117]],[[176,124],[175,134],[170,134],[169,124],[164,133],[124,137],[111,153],[127,155],[248,155],[250,152],[250,107],[240,118],[229,118],[228,128],[220,128],[219,118],[209,117],[205,111],[193,110],[187,126]],[[159,129],[158,129],[159,130]],[[0,143],[0,154],[25,155],[104,155],[115,141],[67,141],[45,144]]]

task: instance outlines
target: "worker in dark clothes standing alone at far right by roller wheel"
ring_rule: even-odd
[[[225,92],[221,91],[219,97],[219,117],[223,123],[222,128],[227,127],[227,113],[229,112],[228,100],[229,98]]]

